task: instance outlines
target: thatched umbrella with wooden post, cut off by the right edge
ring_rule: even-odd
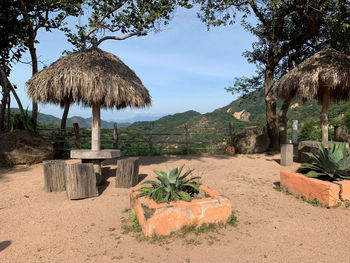
[[[350,98],[350,56],[328,47],[285,74],[275,87],[279,98],[299,96],[302,101],[316,99],[322,105],[322,144],[326,146],[330,101]]]

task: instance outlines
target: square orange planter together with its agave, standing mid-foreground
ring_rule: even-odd
[[[193,170],[181,175],[183,167],[155,171],[158,181],[130,188],[131,208],[146,236],[170,235],[189,225],[226,224],[230,218],[230,200],[200,184],[200,177],[188,178]]]

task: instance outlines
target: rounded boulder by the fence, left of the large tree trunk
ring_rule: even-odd
[[[268,149],[270,138],[261,131],[245,131],[235,136],[233,144],[238,153],[261,153]]]

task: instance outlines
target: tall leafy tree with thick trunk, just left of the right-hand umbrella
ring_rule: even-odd
[[[200,18],[208,26],[233,23],[237,12],[241,12],[244,28],[258,37],[258,41],[253,43],[252,51],[247,51],[244,55],[249,62],[258,65],[260,79],[263,79],[267,131],[271,138],[271,148],[277,148],[277,98],[273,90],[274,81],[286,70],[285,65],[289,65],[287,70],[293,67],[295,53],[300,54],[301,48],[315,40],[322,29],[329,32],[330,24],[337,28],[344,23],[344,19],[349,17],[349,4],[345,0],[196,2],[201,4]],[[257,19],[256,24],[249,20],[250,15]],[[347,23],[342,25],[344,29]],[[284,108],[288,108],[286,106]]]

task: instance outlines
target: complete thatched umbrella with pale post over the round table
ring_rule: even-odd
[[[26,82],[34,102],[62,107],[77,102],[92,106],[91,149],[100,150],[100,108],[145,107],[150,95],[135,72],[119,58],[98,48],[71,53]]]

